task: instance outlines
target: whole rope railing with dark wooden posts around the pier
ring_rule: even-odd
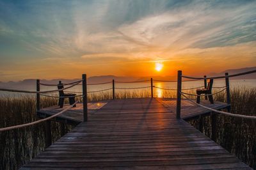
[[[238,117],[238,118],[250,118],[255,120],[256,116],[246,116],[246,115],[242,115],[242,114],[232,114],[230,113],[230,84],[229,84],[229,78],[230,77],[236,77],[239,75],[246,75],[249,73],[255,73],[256,70],[252,70],[250,72],[243,72],[243,73],[237,73],[237,74],[233,74],[233,75],[228,75],[228,73],[225,73],[225,75],[223,76],[218,76],[218,77],[207,77],[206,75],[204,77],[191,77],[191,76],[186,76],[186,75],[182,75],[182,71],[178,71],[177,74],[177,81],[165,81],[165,80],[155,80],[155,79],[149,79],[149,80],[141,80],[141,81],[109,81],[109,82],[101,82],[101,83],[95,83],[95,84],[87,84],[86,82],[86,74],[82,75],[82,79],[79,81],[75,81],[75,82],[69,82],[69,83],[63,83],[64,86],[67,86],[66,88],[62,88],[62,89],[54,89],[54,90],[47,90],[47,91],[40,91],[40,86],[55,86],[57,87],[58,84],[45,84],[45,83],[41,83],[39,79],[36,80],[36,91],[28,91],[28,90],[20,90],[20,89],[8,89],[8,88],[0,88],[0,91],[9,91],[9,92],[17,92],[17,93],[32,93],[32,94],[36,94],[36,111],[40,111],[40,96],[44,96],[44,97],[54,97],[54,98],[61,98],[61,97],[56,97],[51,95],[52,93],[56,93],[58,91],[62,91],[62,90],[66,90],[66,89],[70,89],[73,88],[74,86],[82,86],[82,91],[81,91],[81,95],[76,95],[76,97],[81,97],[83,100],[83,121],[88,121],[88,93],[97,93],[97,92],[102,92],[102,91],[109,91],[112,89],[112,99],[115,100],[115,89],[149,89],[150,88],[150,92],[151,92],[151,98],[154,97],[154,88],[156,89],[163,89],[163,90],[168,90],[168,91],[177,91],[177,107],[176,107],[176,117],[179,119],[180,118],[180,110],[181,110],[181,98],[185,98],[187,100],[189,100],[190,102],[193,102],[193,104],[198,105],[199,107],[204,107],[204,109],[208,109],[209,111],[212,112],[217,112],[219,114],[225,114],[228,116],[234,116],[234,117]],[[182,81],[182,78],[186,78],[186,80]],[[204,96],[205,99],[207,99],[207,96],[209,95],[216,95],[218,93],[221,93],[222,91],[226,91],[226,97],[227,97],[227,104],[228,104],[228,112],[223,112],[223,111],[218,111],[215,109],[211,109],[209,107],[205,107],[204,105],[201,104],[197,104],[195,101],[191,100],[191,98],[189,98],[188,96],[198,96],[195,94],[191,94],[191,93],[185,93],[184,90],[188,90],[188,89],[197,89],[197,88],[207,88],[207,79],[225,79],[225,86],[223,87],[212,87],[212,88],[216,88],[216,89],[221,89],[220,91],[216,92],[216,93],[211,93],[211,94],[207,94],[207,95],[201,95]],[[200,81],[203,80],[204,81],[204,86],[200,86],[200,87],[196,87],[196,88],[184,88],[182,89],[182,82],[188,82],[188,81]],[[137,88],[125,88],[125,87],[121,87],[121,88],[116,88],[116,84],[124,84],[124,83],[139,83],[139,82],[149,82],[148,86],[141,86],[141,87],[137,87]],[[154,82],[177,82],[177,89],[170,89],[170,88],[161,88],[161,87],[157,87],[154,86]],[[100,90],[96,90],[96,91],[87,91],[87,86],[95,86],[95,85],[100,85],[100,84],[112,84],[112,88],[108,88],[108,89],[100,89]],[[67,91],[67,92],[74,92],[74,91]],[[77,92],[74,92],[77,93]],[[77,101],[79,102],[79,101]],[[44,118],[42,120],[38,120],[38,121],[33,121],[31,123],[25,123],[22,125],[15,125],[12,127],[5,127],[5,128],[0,128],[0,132],[5,131],[5,130],[11,130],[11,129],[15,129],[15,128],[21,128],[21,127],[27,127],[30,125],[35,125],[37,123],[42,123],[43,121],[45,121],[45,130],[46,130],[46,146],[51,145],[51,119],[55,118],[56,116],[62,114],[65,111],[68,111],[68,109],[71,109],[75,104],[77,104],[77,102],[75,102],[74,104],[66,107],[65,109],[63,109],[62,111],[49,116],[47,118]]]

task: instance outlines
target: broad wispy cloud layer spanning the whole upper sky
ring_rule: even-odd
[[[61,8],[58,3],[19,5],[28,12],[18,5],[3,5],[16,10],[20,18],[17,22],[12,13],[3,9],[2,13],[11,17],[9,22],[1,20],[1,32],[22,33],[20,38],[30,44],[29,49],[50,56],[182,50],[255,40],[255,3],[91,1],[65,2]],[[35,13],[29,17],[33,22],[26,18],[30,13]]]

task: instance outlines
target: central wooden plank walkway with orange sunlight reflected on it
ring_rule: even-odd
[[[156,98],[109,101],[21,169],[250,169],[177,120],[173,104]]]

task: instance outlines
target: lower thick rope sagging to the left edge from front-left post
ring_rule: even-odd
[[[75,104],[77,104],[77,102],[75,102],[74,104],[70,105],[69,107],[67,107],[66,109],[64,109],[63,111],[60,111],[52,116],[49,116],[47,118],[44,118],[42,120],[38,120],[38,121],[33,121],[31,123],[25,123],[25,124],[22,124],[22,125],[15,125],[15,126],[12,126],[12,127],[5,127],[5,128],[0,128],[0,132],[3,132],[3,131],[6,131],[6,130],[12,130],[12,129],[15,129],[15,128],[22,128],[22,127],[28,127],[28,126],[31,126],[31,125],[35,125],[35,124],[38,124],[38,123],[41,123],[43,121],[47,121],[47,120],[51,120],[52,118],[60,115],[61,113],[67,111],[68,109],[71,109]]]

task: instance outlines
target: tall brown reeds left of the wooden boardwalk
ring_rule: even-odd
[[[54,98],[42,98],[42,107],[57,103]],[[35,97],[0,98],[0,127],[36,121]],[[65,130],[70,130],[65,125]],[[0,169],[18,169],[45,148],[44,123],[0,132]],[[60,123],[52,121],[53,141],[60,138]]]

